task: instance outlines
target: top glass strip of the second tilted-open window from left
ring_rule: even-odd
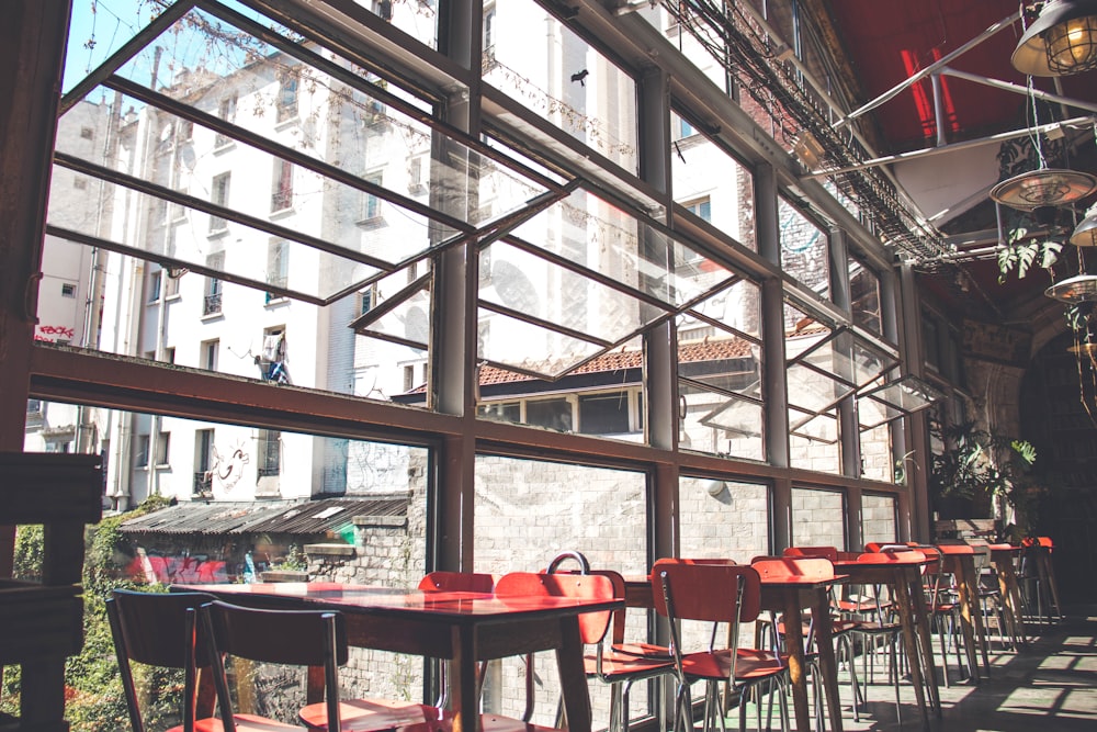
[[[513,233],[531,246],[671,306],[685,305],[732,277],[724,266],[585,190]]]

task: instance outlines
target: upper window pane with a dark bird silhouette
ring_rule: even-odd
[[[637,172],[632,77],[530,0],[487,0],[484,24],[487,83]]]

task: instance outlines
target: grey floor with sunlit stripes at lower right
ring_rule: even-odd
[[[1054,626],[1029,627],[1029,644],[1020,652],[992,643],[989,678],[977,685],[957,683],[940,689],[941,732],[1097,732],[1097,606],[1067,607]],[[950,656],[951,657],[951,656]],[[940,669],[940,655],[937,656]],[[855,722],[849,686],[841,688],[842,723],[848,732],[918,730],[921,717],[907,684],[901,689],[903,724],[896,721],[894,687],[878,674],[868,706]]]

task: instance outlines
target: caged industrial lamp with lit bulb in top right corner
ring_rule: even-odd
[[[1027,76],[1067,76],[1097,68],[1097,0],[1044,3],[1009,60]]]

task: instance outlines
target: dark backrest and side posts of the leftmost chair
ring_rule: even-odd
[[[183,728],[194,729],[196,672],[210,665],[205,644],[197,641],[195,610],[214,601],[203,593],[138,593],[115,589],[106,600],[106,617],[118,660],[118,676],[134,732],[144,732],[132,661],[183,669]]]

